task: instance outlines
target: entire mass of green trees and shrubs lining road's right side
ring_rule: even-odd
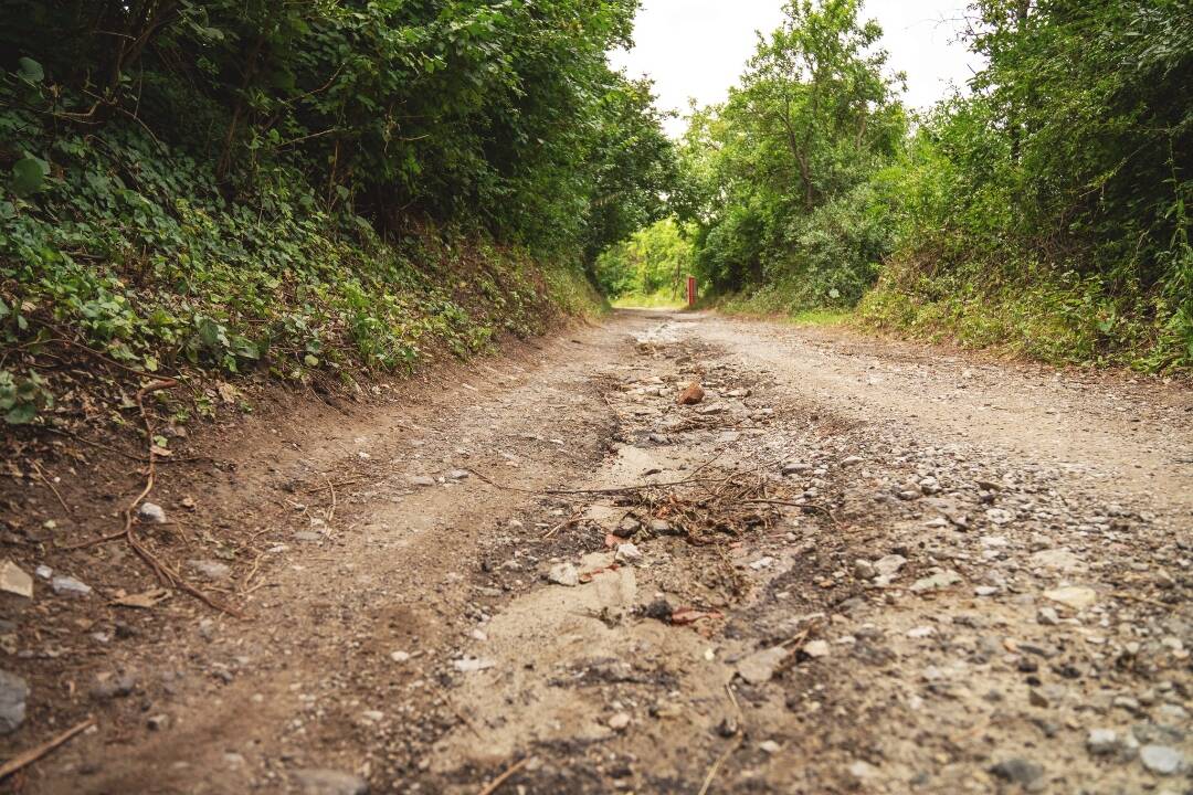
[[[860,5],[790,2],[693,116],[676,207],[701,275],[758,309],[866,296],[883,325],[1193,365],[1188,2],[978,0],[985,68],[913,125]]]

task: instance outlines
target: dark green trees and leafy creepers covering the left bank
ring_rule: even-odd
[[[44,399],[51,327],[286,377],[525,329],[532,260],[663,211],[672,144],[606,62],[636,5],[0,0],[0,408]]]

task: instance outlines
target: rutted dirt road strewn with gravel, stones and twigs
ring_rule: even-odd
[[[163,473],[147,534],[242,620],[47,559],[97,590],[14,616],[5,750],[98,728],[10,788],[1193,785],[1186,389],[620,312],[395,396]]]

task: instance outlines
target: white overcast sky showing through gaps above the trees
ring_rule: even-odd
[[[964,87],[978,61],[957,41],[969,0],[867,0],[866,19],[883,26],[891,72],[907,73],[904,100],[928,107],[948,86]],[[783,19],[783,0],[644,0],[635,25],[635,48],[612,56],[632,77],[655,81],[659,105],[687,112],[721,103],[736,85],[758,43],[755,31],[771,32]],[[679,135],[682,120],[668,124]]]

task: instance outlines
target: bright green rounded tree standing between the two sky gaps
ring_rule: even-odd
[[[790,308],[855,302],[889,246],[869,180],[905,129],[880,30],[859,0],[799,0],[723,106],[694,113],[679,199],[715,290]]]

